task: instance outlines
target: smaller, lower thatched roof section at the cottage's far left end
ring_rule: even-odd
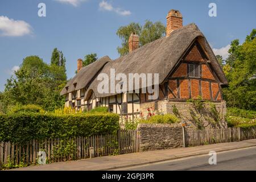
[[[93,81],[93,78],[109,61],[111,61],[109,56],[104,56],[101,57],[101,59],[95,61],[94,63],[89,64],[86,67],[83,67],[79,71],[79,73],[76,74],[76,76],[74,76],[71,80],[68,81],[67,85],[65,85],[65,87],[61,90],[60,95],[64,95],[88,86],[90,81]]]

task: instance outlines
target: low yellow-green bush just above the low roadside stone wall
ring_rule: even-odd
[[[142,120],[141,123],[177,123],[179,119],[172,114],[153,115],[151,118]]]

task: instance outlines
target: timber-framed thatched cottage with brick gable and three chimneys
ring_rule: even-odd
[[[148,93],[100,93],[97,90],[100,73],[110,75],[124,73],[158,73],[159,96],[148,100]],[[107,106],[110,112],[134,119],[151,108],[155,113],[172,113],[173,105],[185,113],[189,98],[201,96],[212,101],[225,114],[225,101],[221,89],[228,81],[218,64],[212,49],[196,24],[183,26],[183,17],[177,10],[167,15],[166,36],[139,47],[138,35],[131,34],[129,54],[111,60],[108,56],[82,68],[82,60],[77,60],[77,75],[61,91],[66,97],[65,106],[77,110]],[[115,84],[120,84],[115,81]],[[111,83],[109,80],[109,87]],[[148,86],[148,85],[147,85]],[[139,84],[139,90],[143,84]]]

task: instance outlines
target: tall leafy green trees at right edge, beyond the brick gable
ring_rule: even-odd
[[[243,44],[233,40],[226,59],[224,72],[229,87],[223,89],[228,107],[256,110],[256,29],[246,37]]]

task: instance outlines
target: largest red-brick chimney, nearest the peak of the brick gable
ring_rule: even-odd
[[[167,25],[166,25],[166,36],[170,36],[171,32],[181,28],[183,25],[182,15],[178,10],[170,10],[166,16]]]

